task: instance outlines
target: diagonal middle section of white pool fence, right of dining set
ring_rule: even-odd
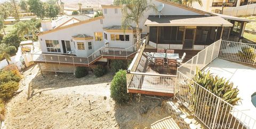
[[[211,63],[215,58],[218,58],[221,39],[200,51],[192,59],[183,63],[177,71],[182,74],[193,77],[196,74],[196,68],[203,69],[207,64]]]

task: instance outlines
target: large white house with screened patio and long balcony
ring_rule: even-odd
[[[221,37],[229,38],[231,28],[239,30],[242,35],[242,24],[233,26],[232,20],[227,21],[217,14],[193,9],[184,5],[162,0],[154,0],[158,6],[165,4],[161,16],[156,16],[153,10],[148,11],[140,21],[141,34],[149,36],[148,44],[151,49],[175,49],[175,50],[203,50],[207,45],[218,41]],[[129,49],[134,47],[136,35],[135,25],[127,30],[122,29],[122,11],[118,5],[102,5],[103,16],[98,18],[79,20],[77,17],[62,17],[54,21],[42,21],[43,32],[38,35],[42,53],[69,54],[83,57],[68,62],[54,60],[49,62],[62,62],[79,66],[90,66],[96,61],[107,61],[116,57],[127,59],[131,55]],[[239,19],[242,20],[244,19]],[[230,28],[230,29],[226,29]],[[104,47],[102,49],[102,47]],[[110,50],[115,55],[110,55]],[[114,49],[119,50],[114,50]],[[100,49],[100,50],[99,50]],[[102,57],[102,52],[107,51],[108,57]],[[119,55],[116,55],[118,51]],[[127,52],[128,51],[128,52]],[[100,53],[95,54],[95,53]],[[124,55],[123,53],[126,53]],[[90,56],[93,56],[91,59]],[[100,57],[101,56],[101,57]],[[90,59],[89,59],[90,58]],[[58,57],[59,59],[59,57]],[[86,60],[86,61],[84,61]],[[37,62],[35,60],[35,62]],[[42,58],[41,63],[47,63]]]

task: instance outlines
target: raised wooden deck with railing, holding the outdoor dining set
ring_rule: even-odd
[[[128,87],[130,93],[150,94],[159,96],[173,96],[176,82],[177,67],[161,67],[154,65],[154,62],[147,60],[146,49],[142,53],[139,64],[133,74]],[[183,62],[190,60],[199,51],[174,50],[179,56],[186,52]],[[138,74],[140,73],[140,74]]]

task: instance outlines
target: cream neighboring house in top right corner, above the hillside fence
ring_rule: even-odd
[[[225,9],[256,3],[256,0],[202,0],[202,6],[193,2],[192,7],[206,12],[221,13],[222,5]]]

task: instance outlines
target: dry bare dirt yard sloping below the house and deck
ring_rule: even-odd
[[[77,79],[49,72],[43,77],[35,67],[24,76],[21,92],[7,103],[7,128],[150,128],[168,116],[161,106],[164,99],[141,96],[124,106],[115,104],[111,74]]]

